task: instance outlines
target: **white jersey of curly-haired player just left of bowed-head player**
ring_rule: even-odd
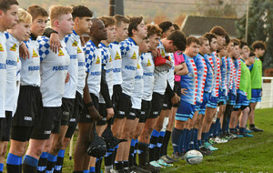
[[[142,99],[151,101],[153,96],[154,82],[155,82],[155,63],[151,53],[145,53],[140,56],[141,65],[143,68],[143,94]]]

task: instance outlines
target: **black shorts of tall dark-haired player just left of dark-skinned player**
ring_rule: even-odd
[[[70,118],[70,122],[66,131],[66,137],[71,138],[76,130],[76,125],[78,122],[78,119],[80,117],[80,114],[84,107],[84,99],[82,95],[76,91],[76,98],[74,100],[74,110],[72,117]]]

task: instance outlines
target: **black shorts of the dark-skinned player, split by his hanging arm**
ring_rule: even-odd
[[[96,97],[94,94],[90,93],[90,97],[92,99],[92,103],[94,104],[94,107],[96,110],[98,109],[98,97]],[[82,113],[80,114],[78,122],[80,123],[93,123],[92,117],[89,115],[88,108],[86,107],[86,103],[84,102],[84,108]]]

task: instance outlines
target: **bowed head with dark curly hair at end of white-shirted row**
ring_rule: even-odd
[[[177,52],[177,50],[184,51],[186,48],[187,40],[184,33],[175,31],[166,38],[167,43],[164,45],[169,53]]]

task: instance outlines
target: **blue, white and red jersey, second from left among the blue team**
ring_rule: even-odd
[[[205,89],[205,82],[207,77],[207,65],[206,61],[203,56],[197,54],[197,56],[193,57],[195,64],[197,66],[197,80],[198,80],[198,87],[197,87],[197,102],[203,102],[203,94]]]

